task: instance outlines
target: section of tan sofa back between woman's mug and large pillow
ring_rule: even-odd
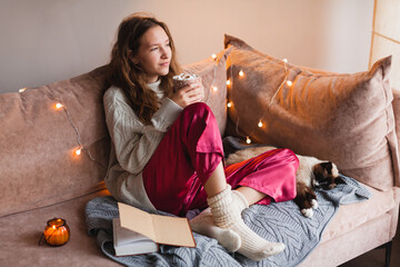
[[[227,58],[231,48],[224,49],[216,58],[183,66],[183,71],[201,77],[206,89],[204,102],[211,108],[221,135],[227,125]]]

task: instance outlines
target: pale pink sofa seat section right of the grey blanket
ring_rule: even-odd
[[[341,205],[324,230],[321,243],[349,233],[366,221],[380,217],[397,207],[399,188],[394,187],[387,191],[377,190],[369,186],[366,186],[366,188],[371,192],[372,197],[362,202]]]

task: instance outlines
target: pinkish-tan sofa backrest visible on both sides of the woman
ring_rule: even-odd
[[[184,71],[202,78],[206,102],[221,132],[227,123],[229,52],[226,49],[216,59],[183,66]],[[104,188],[110,152],[102,101],[109,87],[107,68],[0,95],[0,217]],[[57,103],[62,106],[57,108]]]

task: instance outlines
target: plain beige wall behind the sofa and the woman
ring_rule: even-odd
[[[296,65],[368,69],[373,0],[1,0],[0,92],[107,63],[119,22],[136,11],[169,24],[181,63],[218,52],[230,33]]]

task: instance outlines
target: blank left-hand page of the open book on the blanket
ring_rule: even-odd
[[[156,233],[151,215],[132,206],[118,202],[121,227],[138,231],[156,240]]]

